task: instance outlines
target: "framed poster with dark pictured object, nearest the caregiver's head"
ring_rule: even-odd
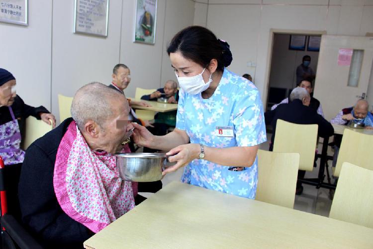
[[[157,0],[136,0],[134,42],[155,43]]]

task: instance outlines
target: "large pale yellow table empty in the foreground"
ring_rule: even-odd
[[[84,246],[373,248],[372,238],[371,228],[172,182]]]

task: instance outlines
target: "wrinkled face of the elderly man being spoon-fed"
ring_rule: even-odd
[[[110,105],[113,115],[102,125],[98,140],[101,149],[114,154],[122,150],[121,143],[128,138],[133,126],[128,120],[130,108],[126,99],[111,100]]]

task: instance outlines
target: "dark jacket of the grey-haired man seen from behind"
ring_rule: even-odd
[[[284,120],[294,124],[318,124],[318,135],[329,137],[333,135],[334,128],[332,124],[326,121],[321,115],[310,107],[304,106],[302,101],[293,100],[288,104],[281,104],[275,110],[264,114],[266,124],[271,124],[273,133],[271,137],[271,148],[275,140],[277,120]]]

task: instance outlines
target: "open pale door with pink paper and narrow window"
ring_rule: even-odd
[[[372,61],[372,37],[322,35],[314,97],[325,119],[330,121],[343,108],[366,98]]]

